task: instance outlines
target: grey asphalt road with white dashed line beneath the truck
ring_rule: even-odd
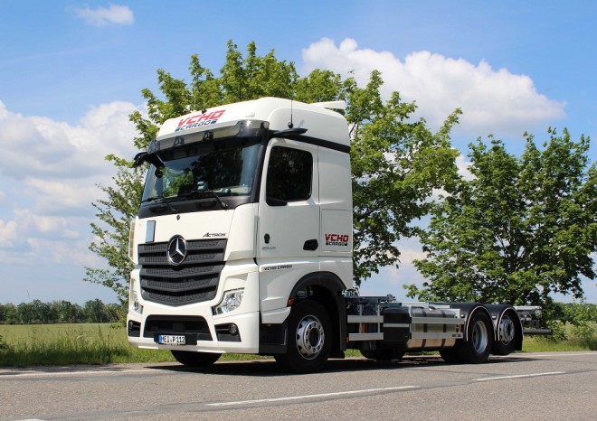
[[[0,419],[596,420],[596,374],[597,352],[331,360],[300,376],[269,360],[4,369]]]

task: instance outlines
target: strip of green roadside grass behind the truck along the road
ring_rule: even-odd
[[[597,351],[597,332],[592,337],[555,341],[550,337],[526,337],[523,352]],[[360,356],[349,350],[347,357]],[[267,359],[256,355],[224,354],[222,360]],[[0,325],[0,367],[34,365],[175,362],[170,351],[142,350],[128,344],[124,326],[117,324]]]

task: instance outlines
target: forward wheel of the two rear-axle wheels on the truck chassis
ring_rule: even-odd
[[[486,313],[474,313],[469,321],[468,341],[457,341],[454,352],[460,362],[480,364],[489,358],[493,343],[493,324]]]

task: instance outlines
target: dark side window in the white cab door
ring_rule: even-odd
[[[274,146],[270,152],[266,200],[271,206],[311,197],[313,156],[307,151]]]

